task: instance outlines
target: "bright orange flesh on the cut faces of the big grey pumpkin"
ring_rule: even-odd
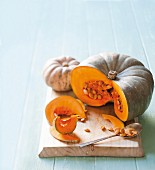
[[[103,87],[103,91],[106,91],[106,94],[109,95],[102,96],[102,99],[94,99],[90,98],[89,95],[84,94],[84,86],[86,83],[89,84],[91,89],[94,88],[97,91],[97,85],[95,82],[104,82],[107,86],[110,86],[110,89],[105,90]],[[91,82],[94,84],[91,86]],[[98,69],[90,67],[90,66],[78,66],[71,72],[71,85],[75,95],[84,103],[90,106],[102,106],[108,102],[114,102],[114,110],[116,115],[122,120],[126,121],[128,117],[128,105],[125,98],[125,95],[121,88],[112,80],[108,79],[102,72]],[[101,87],[99,87],[101,88]],[[102,91],[102,89],[99,89]],[[99,91],[98,90],[98,91]],[[121,100],[121,109],[118,109],[118,96],[119,100]],[[119,104],[120,105],[120,104]]]

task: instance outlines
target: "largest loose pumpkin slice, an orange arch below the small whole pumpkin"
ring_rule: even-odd
[[[56,116],[78,115],[80,118],[86,118],[83,106],[71,96],[60,96],[50,101],[45,108],[46,118],[50,125]]]

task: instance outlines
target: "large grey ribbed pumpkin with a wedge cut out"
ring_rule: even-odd
[[[75,95],[90,106],[114,102],[122,121],[144,113],[154,89],[153,76],[140,61],[116,53],[87,58],[72,70],[71,85]]]

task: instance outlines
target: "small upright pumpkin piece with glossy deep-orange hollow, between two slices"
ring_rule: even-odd
[[[70,117],[57,116],[54,119],[53,125],[59,133],[70,134],[75,130],[77,121],[77,115],[71,115]]]

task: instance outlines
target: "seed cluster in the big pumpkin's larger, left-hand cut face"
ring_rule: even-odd
[[[112,89],[112,86],[105,84],[103,81],[88,81],[85,82],[83,93],[91,99],[101,100],[105,96],[110,97],[111,94],[107,91]]]

